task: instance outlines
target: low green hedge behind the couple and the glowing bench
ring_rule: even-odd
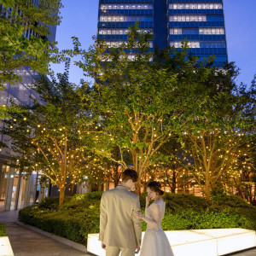
[[[145,206],[145,194],[141,206]],[[20,221],[84,244],[90,233],[99,232],[102,192],[66,197],[58,210],[58,198],[50,197],[19,212]],[[238,196],[218,195],[207,201],[195,195],[166,193],[164,230],[244,228],[256,230],[256,207]],[[146,224],[143,222],[143,230]]]

